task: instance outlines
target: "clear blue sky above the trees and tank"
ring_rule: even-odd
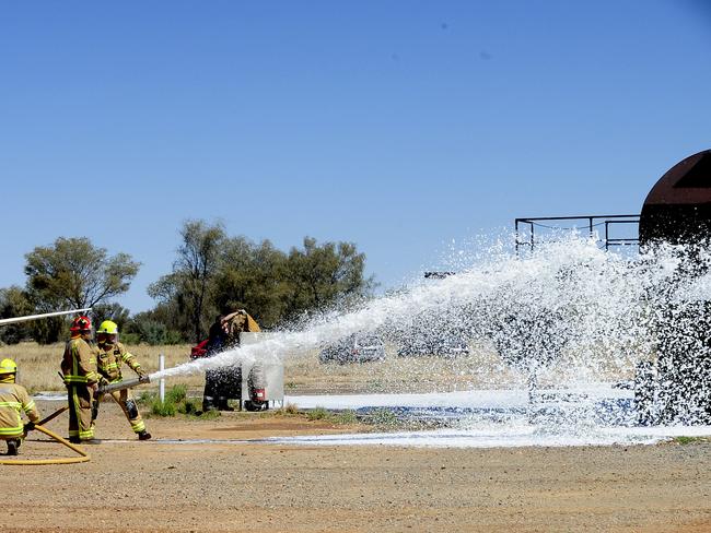
[[[2,2],[0,286],[86,236],[144,310],[186,218],[397,286],[515,216],[639,212],[709,95],[702,1]]]

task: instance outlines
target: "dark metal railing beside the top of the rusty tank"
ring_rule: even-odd
[[[563,227],[560,225],[563,221],[585,221],[584,224],[580,226],[569,226]],[[549,222],[553,224],[544,224],[544,222]],[[529,216],[521,217],[515,220],[516,226],[516,253],[521,250],[522,247],[528,247],[529,250],[533,250],[536,245],[535,238],[535,228],[541,227],[547,229],[587,229],[590,236],[595,235],[595,228],[599,226],[605,226],[605,238],[602,240],[605,249],[608,250],[610,246],[626,246],[626,245],[637,245],[639,244],[639,237],[637,238],[617,238],[610,237],[610,226],[617,224],[639,224],[640,215],[580,215],[580,216]],[[528,238],[522,240],[522,226],[526,225],[528,228]]]

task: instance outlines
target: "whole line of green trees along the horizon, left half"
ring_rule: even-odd
[[[288,252],[269,240],[230,236],[221,223],[186,221],[171,272],[148,289],[152,309],[131,315],[115,301],[138,274],[140,262],[110,256],[89,238],[58,238],[25,254],[24,287],[0,288],[0,318],[92,307],[94,321],[112,319],[126,342],[198,342],[218,315],[246,309],[266,329],[299,322],[336,305],[372,295],[365,254],[352,242],[305,237]],[[66,318],[0,328],[0,341],[65,339]]]

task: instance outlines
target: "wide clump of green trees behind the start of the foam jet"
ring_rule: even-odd
[[[304,311],[370,296],[375,286],[372,277],[363,277],[365,254],[351,242],[318,245],[306,237],[303,250],[287,254],[269,240],[228,237],[221,224],[203,221],[186,222],[180,236],[173,272],[149,287],[158,305],[141,317],[145,327],[136,324],[144,337],[147,327],[154,325],[150,322],[156,322],[168,336],[179,332],[199,342],[215,315],[236,309],[276,328]]]

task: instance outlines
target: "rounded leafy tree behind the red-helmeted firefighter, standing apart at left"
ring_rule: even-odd
[[[27,293],[39,310],[86,308],[124,294],[140,263],[128,253],[108,257],[86,237],[59,237],[25,254]]]

